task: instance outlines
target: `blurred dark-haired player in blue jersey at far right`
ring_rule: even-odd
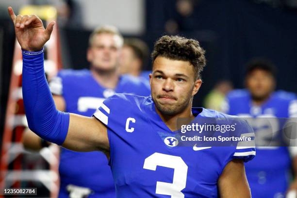
[[[257,157],[245,165],[253,198],[284,198],[289,187],[291,164],[297,167],[287,147],[268,147],[272,132],[281,128],[272,128],[273,125],[267,125],[259,118],[297,116],[296,96],[274,91],[275,77],[276,69],[272,63],[264,59],[252,60],[247,64],[246,89],[231,91],[223,107],[230,115],[258,118],[257,126],[250,123],[256,133]],[[269,130],[269,134],[265,130]],[[292,183],[291,189],[296,189],[296,182]]]

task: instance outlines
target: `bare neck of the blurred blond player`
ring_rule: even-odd
[[[106,71],[91,67],[90,70],[94,79],[100,84],[100,86],[109,89],[115,89],[119,79],[117,69]]]

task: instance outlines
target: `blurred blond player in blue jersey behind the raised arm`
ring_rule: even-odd
[[[87,50],[90,70],[61,70],[49,83],[60,111],[91,116],[103,100],[115,93],[150,95],[149,87],[139,78],[119,75],[122,44],[123,38],[113,26],[93,31]],[[25,148],[38,150],[47,142],[29,131],[24,134],[23,144]],[[74,152],[61,148],[59,172],[59,198],[74,198],[74,195],[115,197],[111,170],[102,152]]]

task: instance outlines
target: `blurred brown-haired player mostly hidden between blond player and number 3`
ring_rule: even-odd
[[[148,63],[149,50],[145,42],[138,38],[126,38],[121,53],[120,73],[141,76],[148,79],[151,71],[144,71]]]

